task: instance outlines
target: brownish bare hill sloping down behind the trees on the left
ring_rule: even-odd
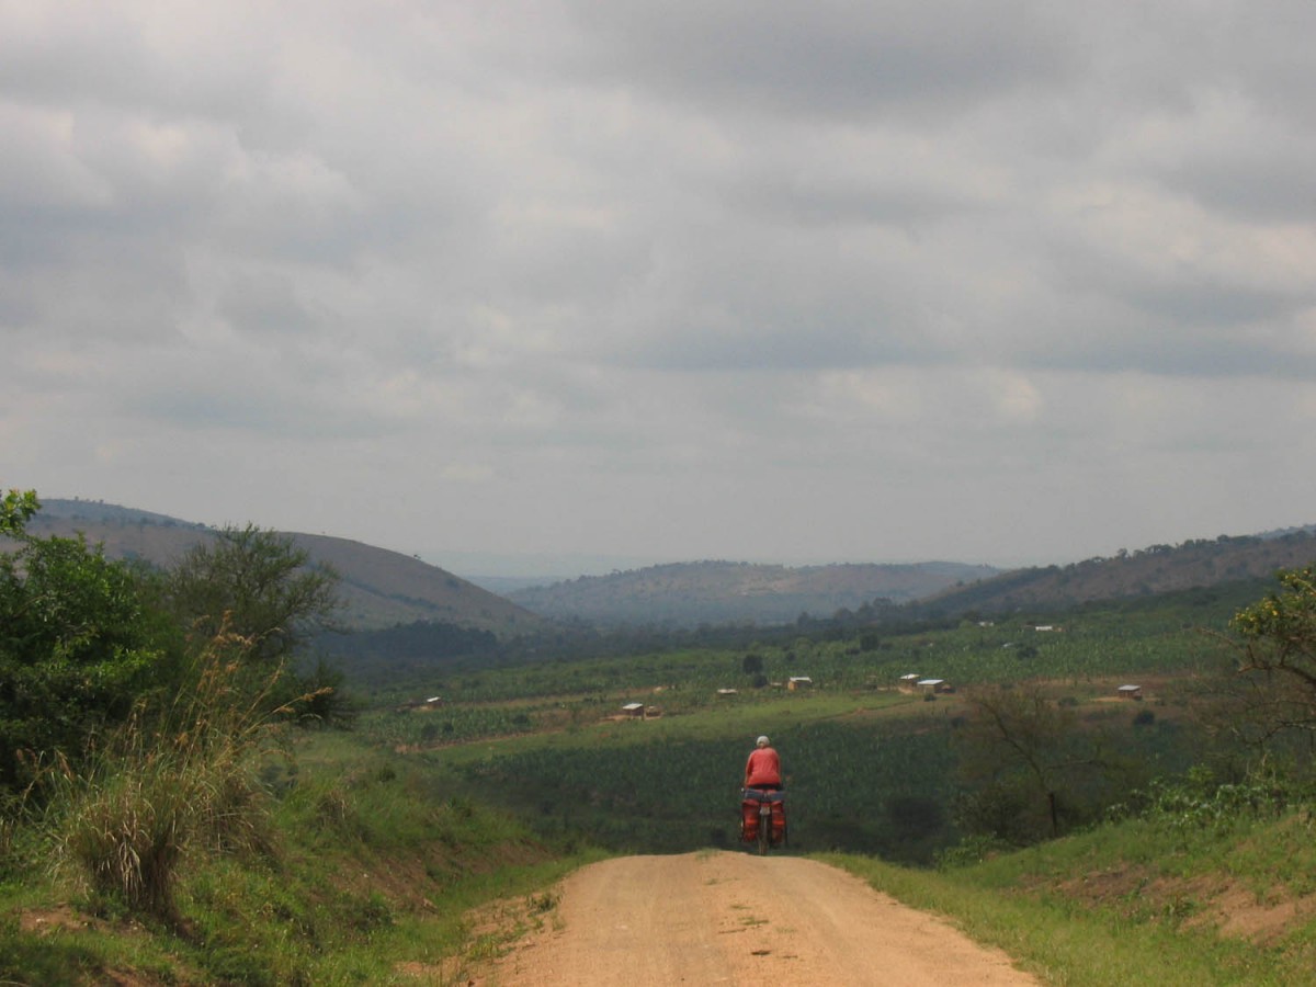
[[[89,542],[104,545],[111,558],[143,559],[161,567],[174,565],[203,538],[215,537],[207,525],[89,500],[42,500],[28,529],[37,536],[83,532]],[[288,534],[312,559],[338,571],[347,626],[376,630],[432,621],[505,638],[544,624],[515,603],[411,555],[347,538]]]

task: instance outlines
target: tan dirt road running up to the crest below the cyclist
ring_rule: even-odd
[[[1037,984],[1009,958],[799,857],[625,857],[559,888],[557,915],[480,983]]]

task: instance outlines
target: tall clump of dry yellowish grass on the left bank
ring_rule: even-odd
[[[270,849],[258,770],[278,747],[276,717],[287,711],[270,709],[279,672],[253,680],[247,654],[246,640],[221,632],[167,708],[139,708],[86,767],[54,772],[54,861],[103,900],[176,924],[190,851]]]

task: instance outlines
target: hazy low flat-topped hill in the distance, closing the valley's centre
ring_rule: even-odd
[[[787,624],[801,613],[830,617],[878,599],[900,604],[1000,571],[955,562],[799,569],[688,562],[513,590],[508,597],[545,617],[599,625]]]

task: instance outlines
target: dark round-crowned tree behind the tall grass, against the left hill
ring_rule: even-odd
[[[170,575],[170,597],[201,638],[224,628],[246,638],[262,665],[292,658],[341,605],[332,567],[312,565],[291,536],[253,525],[193,546]]]

